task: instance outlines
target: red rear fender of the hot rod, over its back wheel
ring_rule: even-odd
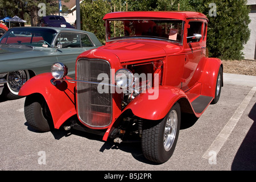
[[[201,95],[215,96],[216,81],[220,67],[222,67],[222,61],[220,59],[207,58],[199,81],[202,83]]]

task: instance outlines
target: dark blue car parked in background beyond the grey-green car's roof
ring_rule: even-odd
[[[57,15],[43,16],[39,21],[39,27],[75,28],[63,16]]]

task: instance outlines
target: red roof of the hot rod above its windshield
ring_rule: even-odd
[[[168,18],[185,20],[191,18],[207,19],[207,16],[194,11],[119,11],[108,13],[103,19],[115,18]]]

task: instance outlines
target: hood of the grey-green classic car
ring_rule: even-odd
[[[0,54],[32,51],[34,48],[31,46],[15,45],[15,44],[0,44]]]

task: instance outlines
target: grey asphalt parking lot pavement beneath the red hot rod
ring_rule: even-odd
[[[0,102],[0,170],[232,171],[256,170],[256,77],[224,73],[217,104],[187,118],[164,164],[148,162],[139,143],[114,144],[98,135],[27,126],[24,98]],[[103,178],[103,176],[102,176]]]

